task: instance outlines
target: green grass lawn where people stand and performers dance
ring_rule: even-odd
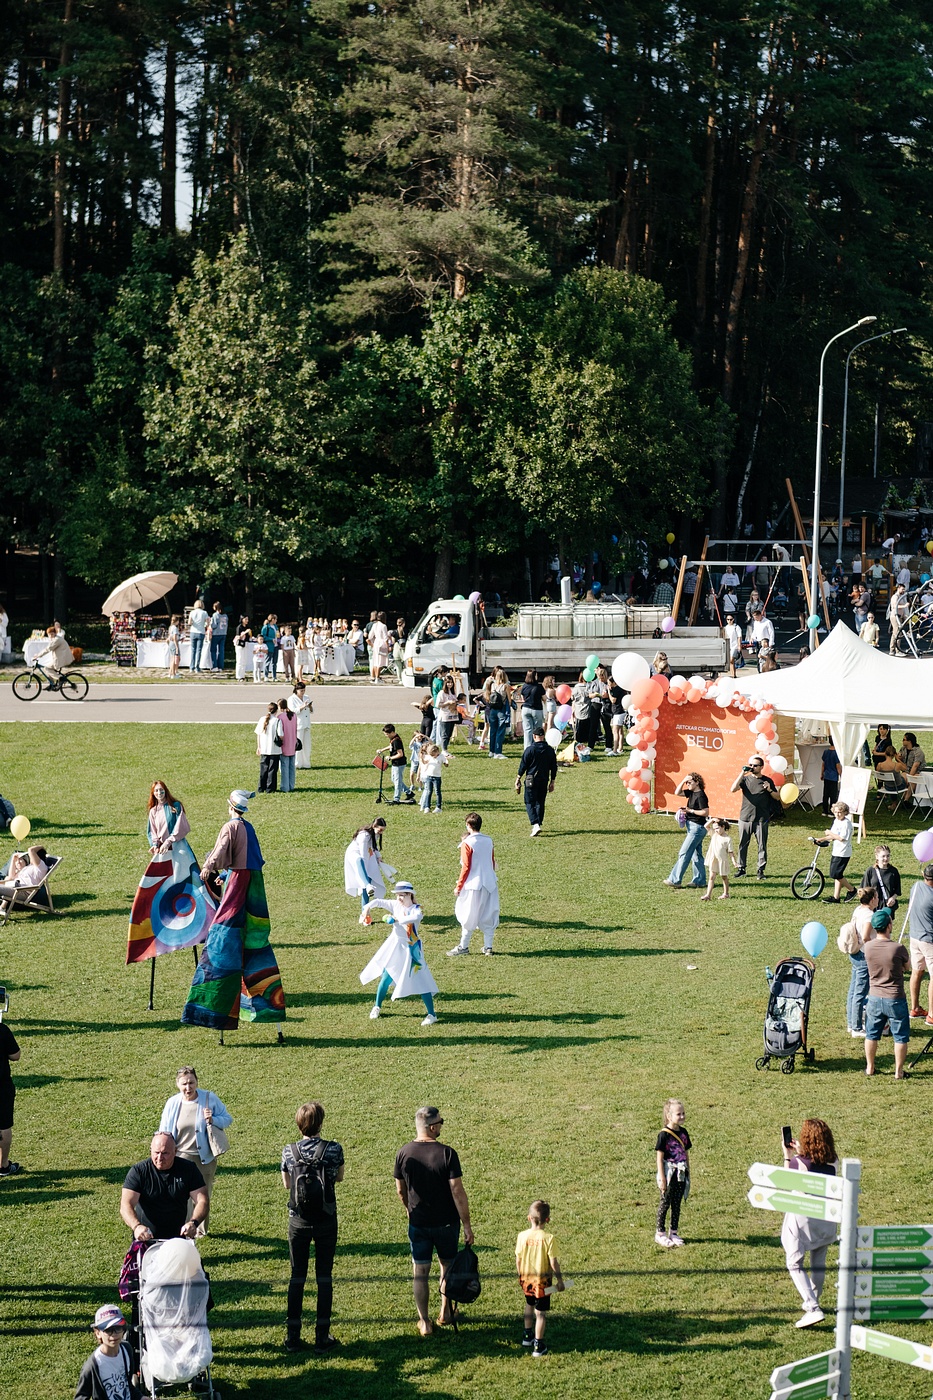
[[[670,818],[636,818],[611,762],[562,774],[548,834],[530,841],[514,764],[459,746],[444,774],[443,815],[382,808],[385,854],[426,909],[441,1019],[422,1030],[420,1001],[408,1000],[370,1022],[371,988],[360,987],[359,972],[382,932],[359,925],[342,855],[374,815],[367,763],[381,738],[375,725],[315,729],[301,791],[254,802],[289,1004],[286,1044],[275,1044],[269,1026],[244,1026],[220,1047],[216,1035],[179,1025],[188,953],[158,960],[156,1011],[146,1011],[148,965],[125,967],[126,920],[146,861],[151,780],[181,795],[203,855],[227,792],[255,781],[251,735],[80,724],[0,734],[0,788],[31,818],[34,839],[64,857],[60,917],[20,917],[0,932],[0,979],[22,1046],[14,1158],[25,1168],[0,1182],[4,1400],[71,1393],[91,1350],[87,1323],[116,1299],[127,1245],[122,1179],[147,1154],[186,1063],[234,1116],[203,1242],[224,1396],[304,1397],[317,1385],[338,1400],[766,1394],[772,1366],[832,1344],[829,1320],[793,1329],[797,1295],[783,1270],[780,1217],[745,1200],[747,1168],[779,1156],[782,1123],[825,1117],[841,1152],[863,1159],[863,1222],[933,1215],[922,1131],[933,1063],[895,1084],[884,1053],[883,1077],[866,1081],[862,1046],[845,1033],[841,917],[790,897],[789,876],[808,858],[818,813],[772,829],[766,882],[738,881],[734,899],[707,906],[699,892],[661,886],[678,829]],[[457,841],[472,808],[500,862],[500,956],[448,960]],[[884,832],[895,864],[915,872],[916,823],[884,820],[870,819],[873,839],[853,868],[870,864]],[[11,846],[0,839],[0,850]],[[800,951],[800,927],[814,914],[831,935],[813,1000],[817,1064],[792,1077],[756,1072],[765,963]],[[653,1147],[670,1095],[686,1103],[693,1190],[681,1225],[688,1246],[661,1252]],[[296,1135],[296,1107],[311,1098],[325,1103],[325,1135],[339,1138],[347,1163],[333,1317],[343,1347],[326,1359],[282,1351],[277,1162]],[[483,1294],[459,1336],[422,1340],[392,1161],[426,1102],[440,1105],[444,1140],[461,1154]],[[563,1268],[576,1281],[555,1302],[544,1362],[518,1345],[513,1277],[514,1236],[537,1196],[552,1203]],[[834,1284],[831,1274],[829,1308]],[[312,1306],[312,1288],[307,1301]],[[923,1323],[902,1330],[929,1338]],[[929,1382],[856,1355],[853,1392],[859,1400],[919,1397]]]

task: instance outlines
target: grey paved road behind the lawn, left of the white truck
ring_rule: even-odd
[[[255,725],[269,700],[280,700],[290,686],[249,685],[97,685],[87,700],[63,700],[45,690],[38,700],[17,700],[8,685],[0,686],[0,722],[32,724],[249,724]],[[405,686],[315,685],[314,724],[413,724],[412,703],[417,690]]]

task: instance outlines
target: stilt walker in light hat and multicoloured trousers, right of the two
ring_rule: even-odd
[[[265,861],[247,811],[254,792],[230,794],[230,819],[202,867],[202,879],[220,874],[220,907],[207,935],[182,1011],[188,1026],[235,1030],[244,1021],[282,1022],[284,991],[276,955],[269,946],[269,906],[262,878]],[[282,1030],[277,1033],[283,1039]]]

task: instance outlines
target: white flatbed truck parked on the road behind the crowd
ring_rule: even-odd
[[[649,661],[665,651],[671,669],[686,676],[719,672],[728,651],[719,627],[675,627],[653,636],[664,608],[629,603],[521,603],[516,627],[486,626],[482,605],[465,598],[436,598],[405,643],[406,686],[427,685],[437,666],[455,666],[466,685],[479,685],[493,666],[511,680],[525,671],[576,680],[587,657],[607,665],[621,651]]]

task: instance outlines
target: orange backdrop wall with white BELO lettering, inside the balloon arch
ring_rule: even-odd
[[[660,706],[656,735],[654,806],[658,812],[677,812],[684,798],[674,790],[688,773],[699,773],[706,784],[712,816],[738,820],[741,792],[730,787],[755,752],[755,738],[748,720],[755,711],[723,710],[712,700],[695,704]],[[780,752],[789,767],[794,759],[794,721],[790,715],[775,715],[773,725]]]

